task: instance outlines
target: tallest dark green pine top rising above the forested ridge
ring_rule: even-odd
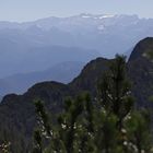
[[[133,105],[130,83],[126,75],[125,57],[117,56],[109,71],[109,73],[104,75],[98,86],[99,101],[105,109],[113,111],[118,117],[118,126],[121,129],[122,119]]]

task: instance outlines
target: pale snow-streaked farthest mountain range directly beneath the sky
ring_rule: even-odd
[[[34,45],[60,45],[96,49],[104,57],[123,52],[140,39],[153,36],[153,19],[137,15],[80,14],[34,22],[0,22],[0,36]],[[11,38],[12,37],[12,38]],[[130,47],[129,47],[130,46]]]

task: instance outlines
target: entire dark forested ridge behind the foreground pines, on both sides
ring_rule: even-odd
[[[127,63],[129,78],[133,84],[132,94],[137,99],[137,106],[141,107],[150,106],[149,97],[153,95],[153,63],[148,57],[148,52],[151,50],[153,50],[153,38],[141,40]],[[91,61],[84,67],[81,74],[69,84],[43,82],[32,86],[23,95],[7,95],[0,104],[0,141],[5,139],[15,142],[14,146],[31,148],[27,142],[32,138],[36,123],[33,101],[40,98],[51,113],[57,113],[62,108],[63,99],[67,96],[75,96],[82,91],[89,91],[95,95],[96,84],[110,62],[113,60],[104,58]],[[8,131],[11,131],[11,134]],[[19,148],[19,153],[21,151],[24,153],[26,149],[23,151]],[[14,153],[17,152],[14,151]]]

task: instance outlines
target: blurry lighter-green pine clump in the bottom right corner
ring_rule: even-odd
[[[150,152],[153,143],[150,128],[150,115],[146,110],[133,111],[127,121],[129,142],[134,144],[138,153],[141,153],[142,150]]]

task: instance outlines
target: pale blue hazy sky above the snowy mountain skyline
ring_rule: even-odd
[[[0,0],[0,21],[32,21],[79,13],[153,17],[153,0]]]

